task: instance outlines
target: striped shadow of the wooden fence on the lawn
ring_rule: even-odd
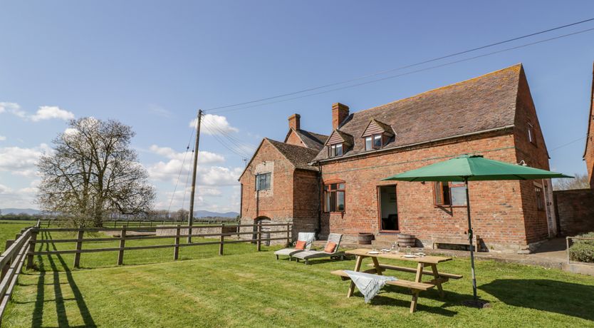
[[[51,239],[51,234],[49,232],[43,232],[43,239]],[[50,244],[45,245],[46,250],[50,250]],[[43,249],[43,245],[40,247]],[[57,250],[56,245],[52,242],[51,248],[53,250]],[[68,268],[66,265],[66,261],[64,261],[61,255],[56,255],[56,259],[60,262],[63,268]],[[62,285],[63,283],[60,282],[60,272],[58,272],[58,265],[56,261],[53,259],[53,255],[48,255],[47,260],[49,265],[51,266],[51,270],[53,271],[53,292],[54,292],[54,299],[53,302],[56,304],[56,316],[58,319],[58,327],[71,327],[68,324],[68,316],[66,314],[66,304],[64,304],[65,300],[71,299],[64,299],[62,296]],[[41,327],[43,322],[43,304],[48,302],[45,299],[45,291],[44,288],[46,285],[50,285],[46,283],[46,270],[44,268],[43,259],[41,256],[38,256],[38,270],[39,272],[39,279],[37,282],[37,297],[35,302],[35,308],[33,309],[33,319],[31,322],[31,327]],[[80,293],[80,289],[78,289],[78,285],[74,281],[72,276],[72,272],[68,269],[64,272],[66,275],[66,280],[68,280],[68,286],[71,288],[74,296],[74,300],[78,306],[80,311],[80,316],[83,318],[83,322],[85,322],[83,327],[97,327],[95,322],[93,321],[93,317],[91,317],[87,304],[83,299],[83,294]]]

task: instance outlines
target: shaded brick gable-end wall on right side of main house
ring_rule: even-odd
[[[516,144],[517,160],[524,160],[528,166],[533,168],[549,170],[548,153],[546,151],[543,133],[538,123],[536,109],[534,108],[523,69],[520,72],[516,106],[518,111],[516,111],[514,143]],[[528,139],[528,123],[533,125],[536,143],[531,143]],[[537,242],[548,237],[547,212],[536,208],[535,183],[543,185],[543,188],[551,188],[547,180],[531,180],[520,183],[524,225],[526,226],[526,239],[528,243]],[[549,201],[552,203],[552,200]],[[550,214],[553,215],[552,207]]]

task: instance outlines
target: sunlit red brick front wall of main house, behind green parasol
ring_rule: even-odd
[[[479,153],[486,158],[516,163],[514,136],[491,135],[467,138],[430,147],[343,159],[323,165],[323,180],[345,180],[345,212],[324,213],[323,234],[340,232],[354,237],[358,232],[378,232],[377,185],[390,175],[446,160],[454,155]],[[470,201],[474,232],[487,247],[525,248],[523,203],[518,181],[471,182]],[[466,238],[466,207],[435,207],[431,183],[397,182],[400,232],[431,240]],[[430,246],[430,245],[427,245]]]

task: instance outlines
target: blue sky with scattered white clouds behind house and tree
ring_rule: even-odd
[[[35,207],[36,158],[71,117],[132,125],[133,146],[159,192],[157,207],[167,208],[199,108],[343,81],[593,13],[592,1],[2,1],[0,207]],[[593,27],[590,22],[474,54]],[[521,62],[551,168],[583,173],[584,139],[553,148],[585,137],[593,41],[594,31],[219,113],[210,124],[241,141],[236,152],[249,153],[264,136],[283,140],[291,113],[301,114],[302,128],[330,133],[332,103],[360,111]],[[244,161],[219,143],[226,140],[219,130],[201,138],[197,207],[239,210],[236,178]],[[172,209],[187,207],[186,173],[182,168]]]

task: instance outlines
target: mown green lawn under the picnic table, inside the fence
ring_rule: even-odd
[[[491,302],[491,308],[461,305],[471,294],[470,281],[464,277],[444,285],[447,291],[444,300],[433,290],[421,293],[418,311],[409,314],[410,294],[397,287],[386,287],[371,304],[365,304],[359,293],[347,299],[348,282],[329,272],[350,269],[353,260],[322,260],[306,266],[276,261],[270,249],[254,252],[253,245],[234,246],[236,250],[229,250],[231,255],[223,257],[215,255],[214,250],[209,255],[200,253],[202,258],[197,260],[66,272],[58,269],[68,266],[71,259],[40,257],[38,265],[47,271],[21,275],[3,324],[6,327],[594,327],[594,277],[481,260],[476,265],[479,294]],[[204,248],[206,251],[207,247]],[[201,256],[187,249],[182,249],[184,252],[187,257]],[[130,260],[134,259],[130,255]],[[115,255],[105,265],[112,262]],[[457,258],[440,268],[467,276],[469,261]],[[404,273],[397,276],[412,279],[412,275]]]

